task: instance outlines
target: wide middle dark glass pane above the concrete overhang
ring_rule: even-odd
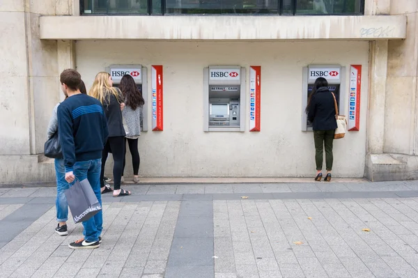
[[[278,13],[278,0],[166,0],[171,14]]]

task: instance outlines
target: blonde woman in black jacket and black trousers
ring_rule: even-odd
[[[100,173],[100,187],[102,194],[111,192],[109,186],[104,186],[104,166],[107,155],[111,152],[114,158],[114,190],[113,196],[127,196],[131,192],[121,190],[123,174],[123,157],[125,156],[125,129],[123,128],[122,110],[125,107],[121,91],[113,87],[113,80],[108,72],[99,72],[94,79],[88,95],[102,102],[109,126],[109,137],[102,152],[102,172]]]

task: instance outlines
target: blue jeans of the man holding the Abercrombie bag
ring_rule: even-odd
[[[74,176],[79,180],[87,178],[95,196],[98,198],[100,206],[102,206],[102,194],[100,193],[100,171],[102,169],[102,160],[88,160],[75,162]],[[99,213],[83,222],[84,226],[84,239],[88,242],[95,242],[99,240],[99,236],[102,234],[103,214],[102,210]]]

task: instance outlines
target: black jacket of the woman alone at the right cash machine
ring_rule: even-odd
[[[308,120],[314,130],[335,130],[335,106],[332,93],[327,87],[320,87],[312,95],[308,107]]]

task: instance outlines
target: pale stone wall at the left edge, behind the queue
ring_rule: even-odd
[[[59,102],[60,47],[40,40],[39,17],[71,13],[72,0],[0,2],[0,183],[54,180],[54,164],[36,154]]]

